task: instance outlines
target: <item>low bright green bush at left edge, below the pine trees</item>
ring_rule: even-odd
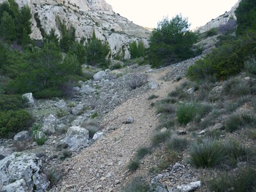
[[[0,138],[12,137],[19,131],[28,129],[33,119],[26,110],[0,112]]]

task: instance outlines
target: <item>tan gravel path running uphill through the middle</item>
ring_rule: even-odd
[[[171,69],[155,70],[148,80],[159,88],[129,99],[105,116],[102,125],[116,128],[82,150],[74,158],[64,161],[65,176],[52,191],[117,191],[130,177],[127,164],[134,158],[139,147],[150,145],[157,126],[154,108],[148,96],[155,94],[162,99],[181,82],[165,82],[161,77]],[[122,123],[128,117],[135,121]]]

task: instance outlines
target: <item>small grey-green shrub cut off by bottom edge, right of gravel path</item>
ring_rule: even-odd
[[[148,183],[142,177],[134,177],[127,185],[122,188],[122,192],[149,192],[151,191]]]

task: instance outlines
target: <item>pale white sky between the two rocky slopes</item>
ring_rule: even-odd
[[[164,17],[181,13],[188,18],[191,29],[204,26],[211,19],[230,11],[238,0],[105,0],[113,11],[139,26],[157,28]]]

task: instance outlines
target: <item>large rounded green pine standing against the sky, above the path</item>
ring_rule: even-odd
[[[187,19],[176,15],[172,20],[164,18],[152,31],[147,59],[152,67],[166,66],[191,58],[201,52],[193,49],[197,34],[189,31]]]

